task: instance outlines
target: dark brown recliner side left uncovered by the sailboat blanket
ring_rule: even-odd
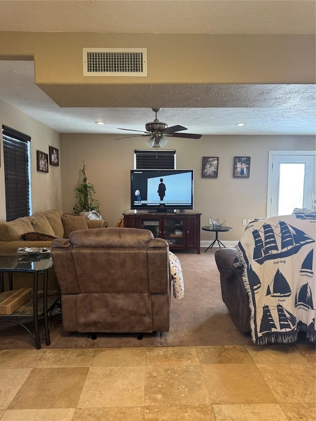
[[[242,268],[235,267],[237,249],[216,250],[215,262],[220,273],[222,299],[242,332],[250,332],[249,297],[242,280]]]

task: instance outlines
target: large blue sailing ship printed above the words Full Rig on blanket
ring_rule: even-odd
[[[315,242],[304,231],[284,221],[279,221],[274,228],[271,224],[263,224],[260,230],[253,230],[252,235],[254,238],[253,259],[259,265],[266,260],[291,256],[304,245]]]

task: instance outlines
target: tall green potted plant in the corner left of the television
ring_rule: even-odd
[[[83,169],[81,170],[81,183],[79,187],[76,188],[76,199],[78,202],[73,210],[75,211],[75,215],[82,215],[84,214],[87,218],[91,211],[99,210],[100,203],[97,199],[92,197],[92,194],[95,193],[93,184],[87,182],[87,174],[86,174],[86,167],[85,161],[83,161]]]

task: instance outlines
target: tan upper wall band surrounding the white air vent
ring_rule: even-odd
[[[34,55],[37,83],[136,83],[83,79],[82,47],[148,48],[148,77],[137,78],[140,84],[315,81],[313,35],[1,32],[0,57]]]

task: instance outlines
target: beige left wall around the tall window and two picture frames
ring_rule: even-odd
[[[31,136],[32,210],[37,213],[47,209],[62,208],[61,167],[48,166],[48,173],[37,171],[36,151],[48,153],[48,146],[60,148],[59,133],[0,100],[0,124]],[[1,136],[0,167],[0,222],[6,220],[3,148]],[[61,160],[61,159],[60,159]]]

